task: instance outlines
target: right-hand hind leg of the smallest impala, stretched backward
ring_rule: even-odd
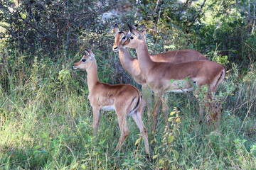
[[[132,114],[132,118],[134,119],[135,123],[137,124],[140,132],[142,132],[142,137],[144,138],[144,145],[146,155],[149,156],[149,140],[146,127],[143,124],[142,117],[139,112]]]

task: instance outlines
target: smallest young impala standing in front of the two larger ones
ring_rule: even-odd
[[[104,111],[116,111],[121,130],[121,136],[116,147],[116,149],[119,149],[129,135],[126,117],[127,115],[131,115],[142,132],[146,155],[149,155],[148,135],[142,122],[143,101],[140,91],[129,84],[111,85],[100,82],[97,75],[95,55],[91,50],[85,50],[85,55],[82,56],[79,62],[73,64],[73,68],[86,69],[87,71],[88,98],[93,112],[93,135],[97,135],[100,122],[100,109]],[[96,140],[96,137],[94,140]]]

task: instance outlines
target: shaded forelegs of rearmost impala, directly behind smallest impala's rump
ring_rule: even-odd
[[[147,115],[148,118],[151,117],[151,106],[152,106],[152,90],[148,85],[143,85],[142,86],[142,98],[143,98],[143,111],[142,111],[142,118],[143,118],[143,113],[145,111],[145,108],[147,107]]]

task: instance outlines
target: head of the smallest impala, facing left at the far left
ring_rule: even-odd
[[[90,67],[92,61],[95,60],[95,55],[90,49],[85,49],[85,54],[82,56],[82,59],[79,62],[73,64],[73,69],[87,69]]]

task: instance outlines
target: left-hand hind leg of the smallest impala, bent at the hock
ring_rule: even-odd
[[[120,128],[120,137],[119,137],[119,141],[116,149],[120,149],[120,147],[124,143],[124,140],[129,135],[129,129],[127,127],[126,113],[124,113],[124,111],[122,111],[121,108],[116,108],[116,112],[117,112],[117,120]]]

